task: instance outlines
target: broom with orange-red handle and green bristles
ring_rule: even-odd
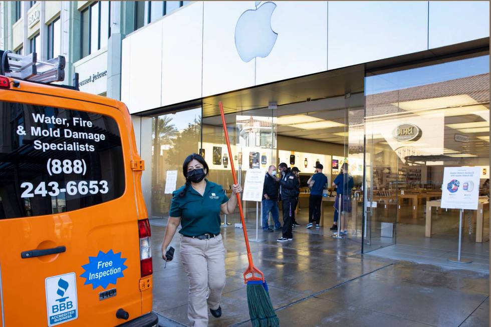
[[[223,124],[223,131],[225,132],[225,140],[227,142],[233,183],[237,184],[237,177],[235,176],[235,168],[233,166],[233,156],[230,149],[230,141],[228,140],[227,126],[225,123],[225,115],[223,114],[223,105],[221,101],[218,102],[218,106],[220,107],[221,123]],[[251,322],[253,327],[276,327],[280,325],[280,319],[273,309],[273,304],[271,303],[270,294],[268,292],[268,284],[264,279],[264,274],[261,270],[256,268],[253,263],[253,256],[249,246],[249,237],[247,236],[246,221],[244,220],[240,195],[238,193],[235,195],[237,196],[240,222],[242,223],[244,239],[246,240],[247,258],[249,260],[249,267],[246,269],[246,271],[244,271],[243,276],[244,283],[247,284],[247,303],[249,305]]]

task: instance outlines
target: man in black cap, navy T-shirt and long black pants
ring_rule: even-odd
[[[321,205],[322,205],[322,192],[327,188],[327,177],[322,173],[324,166],[321,163],[317,163],[314,175],[307,181],[310,187],[309,197],[309,223],[306,228],[316,227],[319,228],[321,221]]]

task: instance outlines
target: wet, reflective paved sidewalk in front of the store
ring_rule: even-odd
[[[179,236],[171,244],[174,260],[164,269],[160,244],[165,220],[152,220],[151,225],[153,310],[162,326],[188,325],[189,284],[180,263]],[[250,234],[255,237],[252,228]],[[250,326],[242,229],[222,228],[222,235],[227,250],[223,315],[210,315],[209,326]],[[322,233],[302,230],[285,243],[276,242],[278,236],[261,232],[266,240],[251,242],[251,250],[282,326],[489,325],[486,273],[361,255],[358,242]]]

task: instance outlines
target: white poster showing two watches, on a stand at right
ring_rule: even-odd
[[[477,210],[480,167],[445,167],[441,207]]]

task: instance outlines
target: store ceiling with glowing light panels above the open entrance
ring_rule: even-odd
[[[364,68],[357,65],[208,97],[203,99],[203,123],[221,125],[222,101],[227,123],[234,124],[242,113],[274,117],[279,136],[345,144],[347,108],[363,108],[363,83]],[[270,103],[278,108],[270,109]]]

